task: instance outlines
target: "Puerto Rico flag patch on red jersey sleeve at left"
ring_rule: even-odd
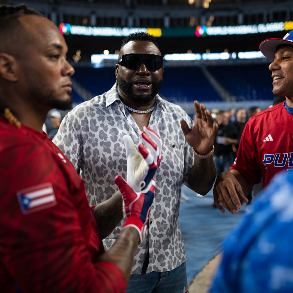
[[[16,193],[23,214],[34,213],[56,205],[51,183],[44,183],[22,189]]]

